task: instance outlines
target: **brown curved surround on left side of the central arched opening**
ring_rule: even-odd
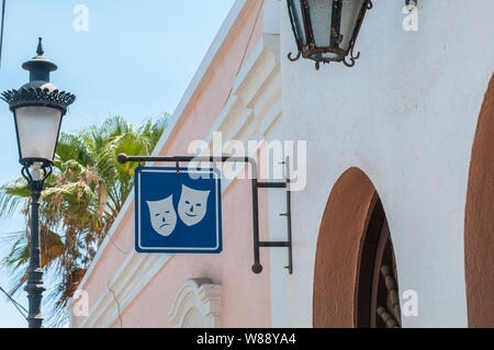
[[[356,327],[360,250],[378,201],[372,182],[348,169],[329,195],[314,268],[313,326]]]

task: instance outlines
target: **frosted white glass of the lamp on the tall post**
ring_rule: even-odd
[[[41,158],[53,161],[60,122],[59,110],[46,106],[18,108],[15,124],[21,159]]]

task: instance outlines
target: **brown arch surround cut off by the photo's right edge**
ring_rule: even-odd
[[[464,223],[470,327],[494,327],[494,77],[479,116]]]

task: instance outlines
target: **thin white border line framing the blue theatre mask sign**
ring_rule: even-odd
[[[162,252],[170,252],[170,251],[187,251],[187,252],[202,252],[202,251],[215,251],[220,248],[220,228],[221,228],[221,223],[220,223],[220,217],[221,217],[221,212],[220,212],[220,201],[221,201],[221,187],[220,187],[220,177],[218,177],[218,172],[216,169],[207,169],[207,170],[191,170],[188,168],[180,168],[179,169],[180,172],[186,172],[186,173],[195,173],[195,174],[200,174],[200,173],[206,173],[206,174],[213,174],[214,178],[214,185],[215,185],[215,195],[216,195],[216,205],[215,205],[215,210],[216,210],[216,247],[214,248],[204,248],[204,247],[143,247],[141,244],[141,174],[143,172],[159,172],[159,173],[169,173],[169,172],[177,172],[177,168],[142,168],[141,171],[139,169],[136,169],[137,172],[137,191],[136,191],[136,201],[137,201],[137,212],[134,212],[134,215],[137,215],[137,245],[139,247],[141,250],[139,252],[146,252],[147,250],[149,252],[157,252],[157,251],[162,251]]]

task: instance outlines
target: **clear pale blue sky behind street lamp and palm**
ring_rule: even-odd
[[[43,37],[45,56],[59,69],[61,90],[77,95],[61,129],[76,132],[110,115],[134,124],[172,113],[234,0],[7,0],[0,91],[27,82],[21,64],[35,56]],[[74,8],[89,9],[89,31],[76,32]],[[0,101],[0,184],[20,176],[13,117]],[[0,221],[0,235],[25,226],[16,215]],[[0,247],[4,256],[5,247]],[[7,275],[0,270],[0,285]],[[18,301],[27,306],[25,294]],[[0,327],[25,320],[0,296]]]

